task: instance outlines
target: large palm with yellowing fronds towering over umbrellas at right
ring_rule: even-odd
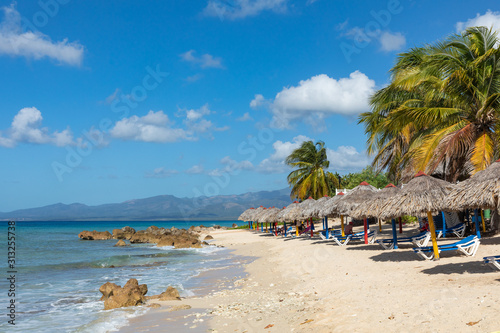
[[[492,29],[473,27],[400,54],[359,119],[373,165],[403,180],[419,170],[449,181],[484,170],[499,150],[499,44]]]

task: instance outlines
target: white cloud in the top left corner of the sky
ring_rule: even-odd
[[[21,15],[15,3],[2,7],[4,20],[0,24],[0,54],[26,58],[51,58],[71,66],[80,66],[83,61],[83,46],[64,39],[53,42],[39,32],[23,32]]]

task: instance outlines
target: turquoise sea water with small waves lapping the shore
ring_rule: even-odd
[[[0,332],[108,332],[127,324],[146,308],[131,307],[104,311],[99,287],[106,282],[123,286],[136,278],[148,285],[147,295],[159,294],[168,286],[191,296],[198,287],[196,277],[204,271],[236,265],[228,250],[173,249],[154,244],[113,247],[117,240],[83,241],[82,230],[112,232],[131,226],[151,225],[189,228],[191,225],[231,226],[235,221],[169,222],[17,222],[16,223],[16,320],[8,324],[5,310],[9,281],[0,281],[3,317]],[[7,276],[7,222],[0,222],[3,258],[2,276]]]

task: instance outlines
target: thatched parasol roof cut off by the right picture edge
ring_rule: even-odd
[[[454,185],[446,198],[449,210],[466,208],[498,209],[500,197],[500,160],[471,178]]]

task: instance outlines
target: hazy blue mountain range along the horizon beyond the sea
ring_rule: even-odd
[[[290,204],[290,189],[249,192],[241,195],[177,198],[159,195],[122,203],[87,206],[54,204],[38,208],[0,212],[0,220],[16,221],[158,221],[235,220],[250,207],[283,207]]]

